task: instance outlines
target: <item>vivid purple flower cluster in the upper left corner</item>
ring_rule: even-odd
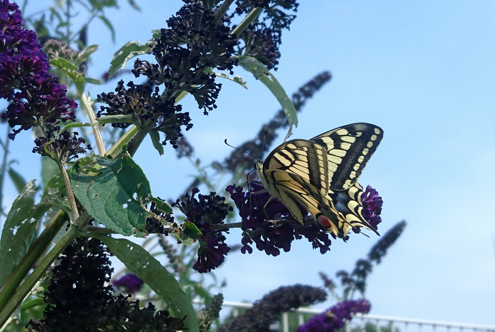
[[[24,29],[19,6],[0,2],[0,95],[12,101],[3,120],[13,130],[11,140],[21,130],[41,126],[44,130],[58,120],[73,120],[77,103],[57,77],[49,74],[49,61],[32,30]],[[18,129],[14,129],[20,126]]]

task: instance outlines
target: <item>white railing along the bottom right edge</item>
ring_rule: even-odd
[[[194,303],[200,304],[200,301],[195,300]],[[239,309],[247,309],[252,307],[252,303],[246,302],[230,302],[224,301],[223,307],[232,308],[232,315],[238,316]],[[321,314],[324,310],[320,309],[310,309],[310,308],[299,308],[294,310],[297,313],[298,325],[304,324],[303,314]],[[282,331],[289,332],[289,315],[288,313],[282,314]],[[357,324],[356,324],[357,323]],[[410,328],[413,327],[415,331],[418,332],[439,332],[439,328],[444,332],[451,332],[451,329],[455,329],[456,332],[464,332],[464,330],[471,330],[472,332],[495,332],[495,326],[493,325],[480,325],[480,324],[464,324],[464,323],[452,323],[452,322],[441,322],[441,321],[430,321],[424,319],[414,319],[414,318],[401,318],[392,316],[382,316],[382,315],[370,315],[370,314],[356,314],[354,319],[350,324],[346,325],[346,332],[351,332],[352,327],[359,327],[360,331],[364,331],[366,323],[371,323],[375,325],[376,332],[381,332],[384,328],[390,329],[390,332],[396,332],[396,329],[400,329],[401,332],[411,332]],[[384,327],[382,324],[385,323],[388,327]],[[425,331],[426,330],[426,331]]]

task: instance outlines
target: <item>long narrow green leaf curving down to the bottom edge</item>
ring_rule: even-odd
[[[142,279],[172,309],[175,317],[187,316],[184,324],[188,332],[198,332],[198,319],[191,299],[181,289],[175,278],[160,262],[140,245],[125,238],[105,237],[94,234],[136,276]]]

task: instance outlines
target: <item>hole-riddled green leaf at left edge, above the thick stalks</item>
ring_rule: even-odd
[[[36,205],[35,181],[31,180],[12,203],[0,239],[0,285],[26,254],[33,239],[37,221],[47,212],[49,204]]]

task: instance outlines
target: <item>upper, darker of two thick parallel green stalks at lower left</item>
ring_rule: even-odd
[[[60,228],[64,225],[67,213],[58,210],[55,216],[50,220],[48,226],[43,230],[41,235],[29,247],[28,252],[24,255],[17,268],[10,274],[5,284],[0,289],[0,308],[3,308],[8,299],[26,277],[29,270],[40,259],[41,255],[48,249],[51,241],[57,235]],[[0,325],[1,326],[1,325]]]

